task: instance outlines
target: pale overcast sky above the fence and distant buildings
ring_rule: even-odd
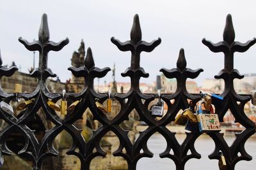
[[[3,64],[13,60],[21,71],[28,73],[33,66],[33,52],[19,43],[21,36],[28,41],[38,39],[43,13],[47,13],[50,40],[58,42],[66,37],[70,43],[60,52],[50,52],[48,66],[61,81],[71,77],[71,57],[84,39],[86,48],[92,48],[97,67],[116,64],[116,81],[129,81],[120,75],[130,66],[131,53],[120,52],[110,38],[130,39],[132,20],[140,16],[142,38],[152,41],[160,37],[162,43],[151,53],[141,53],[141,67],[150,74],[141,82],[156,81],[159,69],[176,67],[180,48],[184,48],[188,67],[203,68],[195,81],[213,78],[223,69],[223,53],[212,53],[202,44],[202,38],[221,41],[225,20],[232,15],[236,41],[242,43],[256,36],[255,1],[1,1],[0,49]],[[256,46],[245,53],[235,53],[234,67],[241,74],[256,73]],[[36,67],[38,52],[36,52]],[[111,81],[111,74],[100,83]]]

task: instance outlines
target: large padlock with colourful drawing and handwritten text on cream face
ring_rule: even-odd
[[[204,103],[204,100],[201,100],[198,103],[198,110],[196,110],[196,117],[198,120],[198,127],[200,132],[214,132],[214,131],[220,131],[220,120],[218,118],[217,114],[213,113],[213,109],[211,107],[209,111],[202,110],[202,104]]]

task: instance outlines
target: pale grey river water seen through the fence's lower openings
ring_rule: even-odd
[[[177,140],[179,143],[186,138],[186,134],[176,134]],[[225,136],[225,140],[230,146],[232,142],[236,139],[234,135]],[[159,153],[164,152],[166,148],[166,141],[161,136],[161,134],[154,134],[148,140],[148,148],[154,153],[153,158],[143,158],[140,159],[137,165],[137,169],[139,170],[170,170],[176,169],[174,162],[172,159],[161,159],[159,157]],[[214,150],[214,142],[207,135],[202,135],[195,142],[195,148],[198,153],[201,154],[201,159],[190,159],[185,165],[185,169],[207,169],[207,170],[218,170],[218,160],[210,160],[208,155],[210,155]],[[246,152],[253,157],[251,161],[241,160],[236,164],[236,170],[250,170],[256,169],[256,138],[255,136],[249,138],[245,144]]]

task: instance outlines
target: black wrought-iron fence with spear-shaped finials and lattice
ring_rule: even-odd
[[[220,132],[207,133],[215,143],[214,152],[209,155],[209,159],[219,159],[219,152],[221,151],[223,155],[225,155],[227,169],[234,169],[236,163],[240,160],[252,160],[252,157],[246,153],[244,144],[246,140],[255,133],[255,124],[246,117],[244,113],[244,104],[250,101],[251,97],[250,95],[241,96],[237,94],[234,90],[233,80],[235,78],[243,78],[243,76],[239,74],[239,71],[234,69],[234,52],[246,52],[246,50],[256,42],[256,39],[254,38],[246,43],[239,43],[238,41],[234,41],[234,39],[235,32],[232,25],[232,18],[231,15],[227,15],[223,41],[212,43],[205,39],[202,40],[202,43],[212,52],[223,52],[225,55],[225,67],[215,76],[216,79],[223,79],[225,81],[225,90],[220,94],[224,97],[224,101],[220,105],[215,106],[220,122],[223,122],[225,113],[227,110],[230,110],[236,118],[236,122],[239,122],[245,127],[243,132],[236,135],[236,140],[231,146],[228,146],[223,138],[223,134]],[[65,130],[72,136],[73,140],[72,147],[68,150],[67,154],[76,155],[81,160],[81,169],[90,169],[90,162],[93,158],[97,156],[104,157],[104,155],[106,155],[106,152],[100,147],[100,139],[109,131],[114,132],[120,140],[120,146],[113,155],[123,157],[127,160],[128,168],[131,170],[136,169],[136,164],[141,158],[153,156],[153,153],[150,152],[150,149],[147,147],[147,141],[155,132],[159,132],[167,142],[166,150],[159,156],[161,158],[172,159],[177,169],[184,169],[189,159],[200,159],[200,153],[196,152],[194,144],[202,133],[199,131],[186,133],[186,139],[184,139],[183,143],[180,145],[175,138],[175,133],[169,131],[166,125],[175,120],[175,116],[180,109],[184,110],[189,107],[188,99],[192,100],[193,104],[199,101],[199,94],[189,94],[186,90],[186,79],[196,78],[203,69],[193,70],[186,67],[184,50],[180,50],[177,68],[160,69],[167,78],[177,79],[177,90],[174,94],[162,94],[160,96],[168,106],[166,115],[158,121],[152,117],[148,111],[148,105],[159,96],[157,94],[143,94],[140,91],[140,78],[148,77],[148,73],[145,73],[143,67],[140,67],[140,53],[152,52],[152,50],[161,43],[161,39],[159,38],[151,43],[141,40],[138,15],[134,16],[131,40],[122,43],[118,39],[111,38],[111,42],[114,43],[119,50],[123,52],[131,51],[131,66],[122,73],[122,76],[129,76],[131,78],[131,89],[125,94],[111,94],[111,97],[115,98],[121,106],[118,115],[112,120],[109,120],[102,111],[98,110],[95,104],[95,99],[99,99],[100,103],[106,101],[108,94],[99,94],[93,89],[93,80],[106,76],[110,69],[109,67],[104,67],[103,69],[95,67],[90,48],[88,48],[86,53],[83,67],[68,68],[68,70],[72,71],[74,76],[83,77],[85,84],[84,90],[79,94],[67,93],[65,95],[65,97],[71,101],[81,101],[77,104],[72,113],[62,119],[47,104],[49,99],[53,102],[58,101],[61,99],[62,94],[52,94],[49,92],[45,85],[45,80],[49,77],[56,76],[56,74],[52,73],[51,69],[47,67],[47,55],[49,51],[61,50],[63,46],[68,44],[68,39],[60,41],[59,43],[49,41],[47,15],[44,14],[42,16],[38,41],[29,43],[22,38],[19,38],[19,41],[28,50],[39,52],[39,67],[31,73],[31,76],[38,78],[38,86],[36,90],[30,94],[7,94],[3,89],[0,89],[1,101],[5,103],[10,103],[10,101],[16,97],[25,99],[26,101],[30,99],[34,100],[32,104],[29,104],[26,110],[22,111],[18,118],[6,113],[6,111],[0,110],[0,118],[8,124],[0,131],[1,151],[4,155],[10,155],[12,153],[10,148],[6,145],[8,135],[14,131],[20,132],[25,140],[25,145],[19,151],[19,155],[26,155],[26,157],[33,161],[34,169],[41,169],[42,161],[46,157],[58,155],[56,148],[53,146],[53,141],[61,131]],[[12,76],[17,70],[17,67],[8,68],[2,66],[2,61],[0,64],[1,77]],[[173,99],[174,102],[171,102]],[[35,137],[34,131],[29,128],[28,122],[34,120],[35,114],[40,108],[43,108],[47,119],[51,120],[54,126],[49,131],[45,131],[44,137],[39,142]],[[83,113],[87,108],[90,108],[93,118],[98,120],[102,126],[99,127],[97,131],[93,132],[93,136],[88,142],[85,142],[81,135],[81,130],[74,126],[74,122],[83,117]],[[134,143],[131,143],[127,132],[120,127],[120,124],[128,119],[129,114],[134,109],[138,111],[140,120],[145,122],[148,127],[145,131],[140,133],[140,136]],[[126,152],[124,152],[124,148]],[[143,152],[141,152],[141,150],[143,150]],[[170,152],[171,150],[173,150],[173,153]],[[189,150],[191,153],[189,153]],[[218,165],[216,165],[216,167],[218,167]],[[159,168],[161,169],[161,167]]]

